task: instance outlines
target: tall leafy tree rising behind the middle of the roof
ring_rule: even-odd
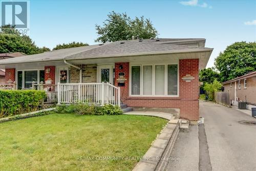
[[[96,24],[98,38],[95,42],[111,42],[118,40],[131,40],[132,37],[155,38],[158,33],[150,19],[135,17],[131,19],[126,13],[110,12],[103,26]]]

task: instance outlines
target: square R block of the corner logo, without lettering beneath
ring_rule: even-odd
[[[28,2],[1,2],[1,26],[28,27]]]

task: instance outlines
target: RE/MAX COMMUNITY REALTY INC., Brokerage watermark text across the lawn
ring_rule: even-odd
[[[151,160],[156,159],[158,161],[164,160],[164,161],[179,161],[179,157],[139,157],[139,156],[78,156],[76,157],[76,160],[78,161],[106,161],[106,160],[129,160],[129,161],[140,161],[140,160]]]

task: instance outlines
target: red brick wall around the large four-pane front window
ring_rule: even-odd
[[[122,65],[123,69],[119,70]],[[122,102],[128,106],[148,108],[178,108],[180,117],[189,120],[199,119],[199,59],[180,59],[179,97],[129,97],[129,62],[115,63],[115,86],[118,73],[125,73],[125,87],[121,87]],[[191,82],[182,79],[186,74],[194,77]]]

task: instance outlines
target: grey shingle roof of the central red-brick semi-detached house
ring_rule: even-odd
[[[115,55],[131,55],[138,53],[156,53],[156,52],[172,52],[172,51],[193,51],[197,49],[208,49],[202,47],[191,47],[175,44],[154,44],[151,41],[154,39],[144,39],[143,41],[122,40],[106,43],[103,45],[91,45],[78,48],[69,48],[61,50],[53,50],[45,53],[26,55],[17,58],[9,58],[0,60],[0,65],[10,63],[26,63],[40,61],[56,61],[63,59],[75,58],[90,58],[100,56],[115,56]],[[179,41],[189,39],[168,39],[160,38],[160,41]],[[196,39],[195,39],[196,40]],[[202,39],[203,40],[203,39]],[[159,41],[158,41],[159,42]]]

